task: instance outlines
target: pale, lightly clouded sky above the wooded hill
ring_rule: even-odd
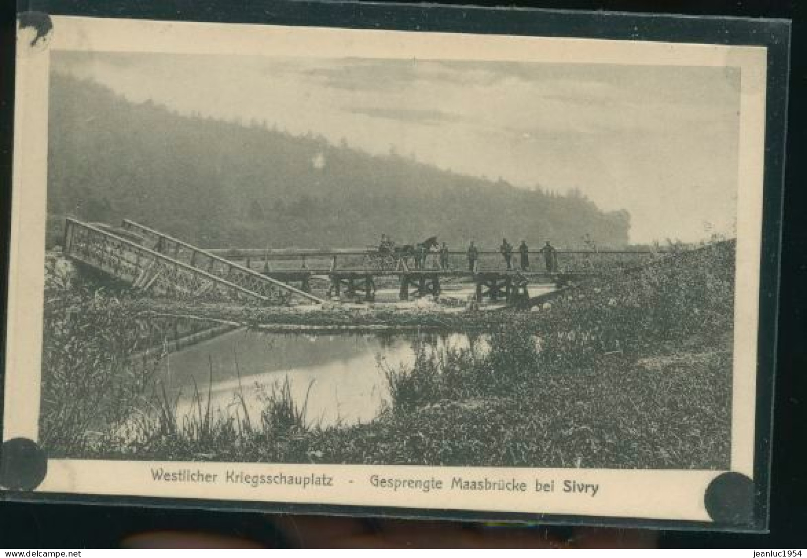
[[[632,242],[734,235],[735,68],[57,51],[52,69],[182,114],[576,188],[627,210]]]

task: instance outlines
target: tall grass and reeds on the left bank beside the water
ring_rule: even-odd
[[[170,459],[203,447],[282,443],[311,426],[307,396],[295,401],[288,378],[262,387],[263,408],[250,416],[235,354],[232,405],[212,405],[211,362],[207,381],[194,380],[187,409],[178,409],[182,394],[167,390],[157,373],[175,327],[140,319],[125,294],[85,283],[64,260],[49,259],[45,277],[40,442],[49,455],[108,447],[138,455],[158,444]]]

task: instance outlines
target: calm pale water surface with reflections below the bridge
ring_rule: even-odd
[[[309,425],[369,422],[389,393],[383,366],[399,368],[415,360],[417,343],[429,350],[474,346],[486,350],[484,334],[266,334],[238,330],[169,355],[161,380],[178,413],[190,412],[194,384],[211,408],[228,413],[235,394],[244,396],[250,417],[260,417],[265,396],[288,377],[298,405],[307,401]],[[212,377],[212,381],[210,381]]]

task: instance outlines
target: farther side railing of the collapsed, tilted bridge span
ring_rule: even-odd
[[[240,262],[222,258],[135,221],[123,220],[123,229],[147,239],[153,245],[153,250],[160,254],[166,254],[178,261],[187,262],[188,265],[195,269],[201,269],[210,275],[215,275],[230,283],[245,287],[249,291],[265,296],[267,299],[283,299],[286,296],[296,295],[317,303],[324,302],[324,300],[308,292],[262,275],[253,270],[251,266],[243,266]]]

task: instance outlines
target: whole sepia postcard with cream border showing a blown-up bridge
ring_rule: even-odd
[[[185,496],[205,464],[383,467],[356,490],[390,501],[526,478],[560,513],[616,497],[602,470],[751,476],[764,48],[54,20],[12,231],[40,345],[8,346],[48,459]]]

